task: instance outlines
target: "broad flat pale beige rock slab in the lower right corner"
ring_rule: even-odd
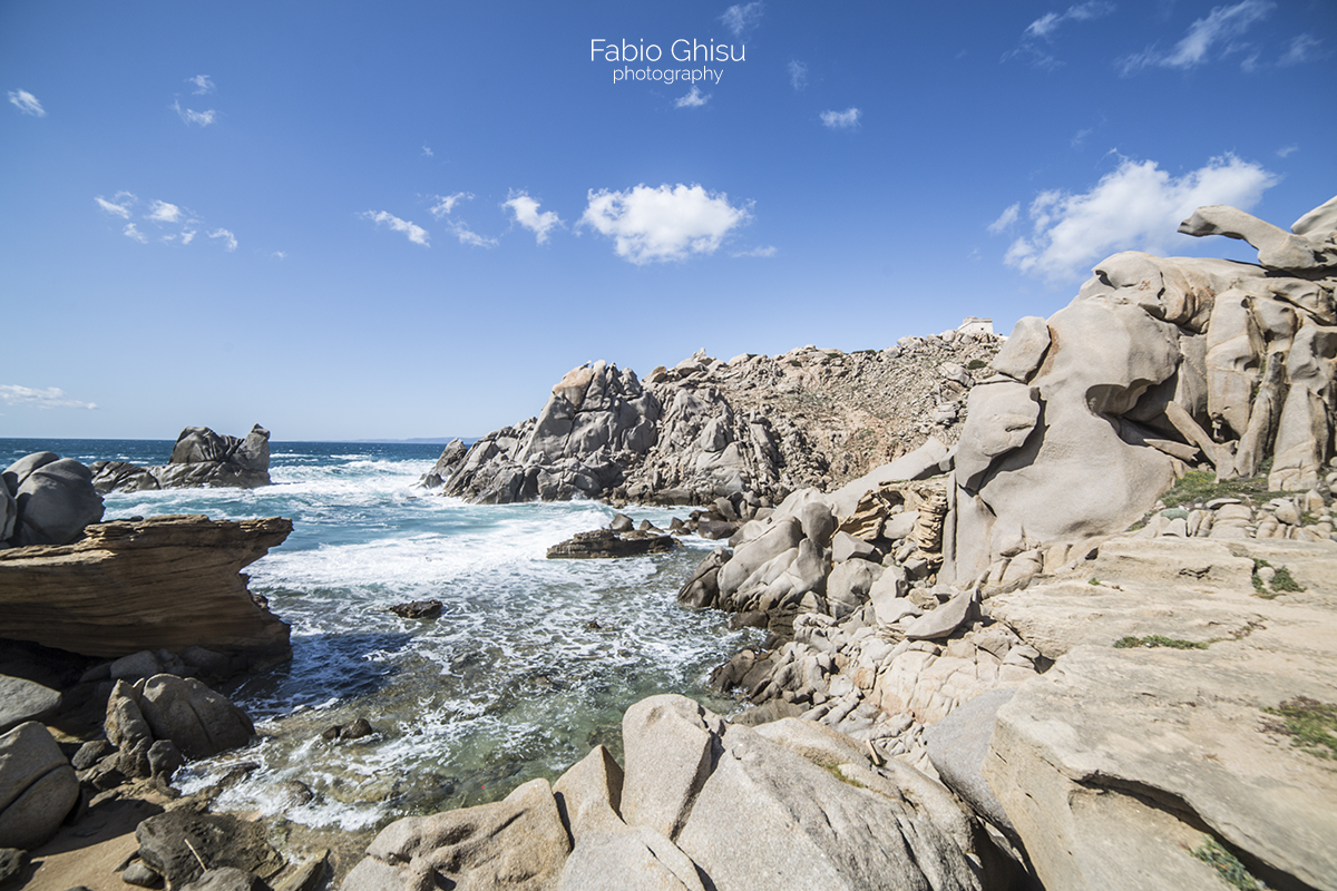
[[[1337,548],[1282,552],[1267,553],[1337,578]],[[1293,745],[1267,711],[1337,703],[1337,596],[1253,596],[1253,553],[1107,542],[1099,585],[989,601],[1062,655],[999,709],[983,768],[1046,887],[1219,888],[1190,854],[1205,827],[1270,887],[1337,888],[1334,761]],[[1122,635],[1206,648],[1116,649]]]

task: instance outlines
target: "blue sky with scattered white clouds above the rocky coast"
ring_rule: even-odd
[[[480,435],[1337,194],[1332,0],[0,3],[0,437]]]

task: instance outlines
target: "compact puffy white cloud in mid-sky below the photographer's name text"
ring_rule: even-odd
[[[723,192],[682,183],[659,188],[642,183],[624,192],[591,188],[588,199],[580,224],[614,239],[618,256],[638,266],[714,254],[751,216]]]

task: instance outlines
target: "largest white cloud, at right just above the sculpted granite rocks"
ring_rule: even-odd
[[[1028,210],[1034,232],[1012,242],[1004,262],[1058,279],[1115,251],[1165,252],[1181,239],[1179,222],[1198,207],[1249,210],[1275,183],[1275,175],[1234,155],[1213,158],[1178,179],[1154,160],[1124,158],[1088,192],[1038,195]]]

